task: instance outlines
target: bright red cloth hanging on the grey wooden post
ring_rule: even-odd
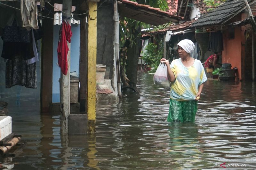
[[[58,42],[58,64],[61,69],[61,72],[64,75],[67,75],[68,72],[68,42],[71,42],[71,26],[66,21],[62,21],[62,26],[60,27],[60,37]]]

